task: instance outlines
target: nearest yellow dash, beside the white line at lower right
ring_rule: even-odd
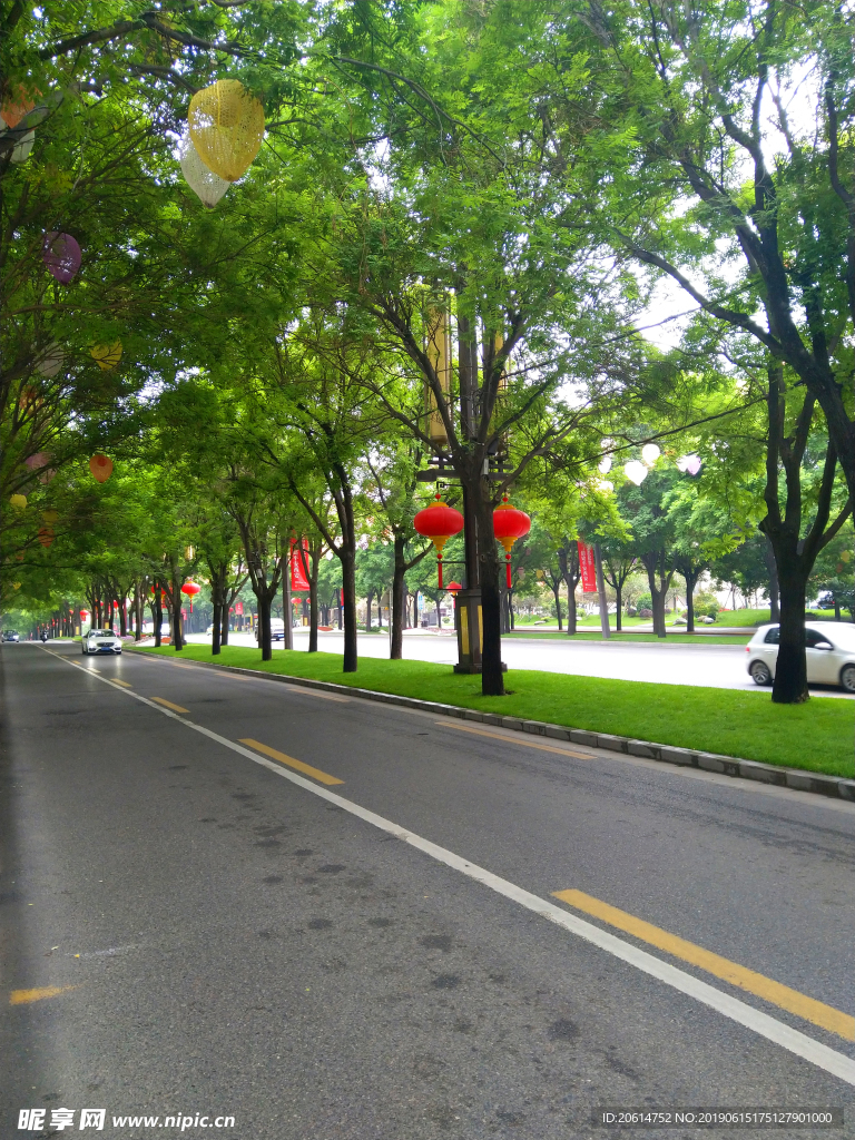
[[[663,950],[674,958],[682,958],[684,962],[691,962],[692,966],[722,978],[723,982],[730,982],[731,985],[747,990],[748,993],[755,994],[755,996],[762,997],[780,1009],[789,1010],[790,1013],[803,1017],[806,1021],[813,1021],[814,1025],[819,1025],[830,1033],[836,1033],[839,1037],[855,1041],[855,1017],[834,1009],[833,1005],[826,1005],[824,1002],[799,993],[798,990],[791,990],[789,986],[781,985],[780,982],[773,982],[772,978],[767,978],[763,974],[756,974],[754,970],[746,969],[744,966],[739,966],[709,950],[703,950],[702,946],[695,946],[694,943],[654,927],[643,919],[637,919],[634,914],[620,911],[617,906],[610,906],[609,903],[603,903],[581,890],[555,890],[553,896],[560,898],[562,903],[573,906],[577,911],[593,914],[594,918],[602,919],[609,926],[617,927],[651,946]]]

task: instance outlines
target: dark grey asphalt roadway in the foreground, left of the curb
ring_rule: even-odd
[[[3,1138],[855,1135],[855,805],[131,652],[0,667]]]

